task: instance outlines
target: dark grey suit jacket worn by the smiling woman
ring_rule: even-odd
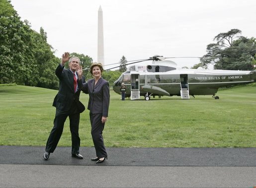
[[[110,99],[109,84],[102,77],[100,77],[95,86],[94,83],[94,79],[89,79],[87,83],[83,84],[82,91],[85,94],[89,94],[87,109],[90,110],[90,113],[102,113],[102,116],[107,117]]]

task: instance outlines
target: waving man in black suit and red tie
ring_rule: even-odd
[[[69,69],[65,69],[65,63],[69,61]],[[85,106],[79,101],[80,89],[85,83],[82,66],[78,57],[70,57],[69,52],[62,55],[62,61],[55,70],[60,81],[58,94],[55,96],[53,106],[56,107],[54,126],[45,147],[44,159],[47,160],[53,153],[63,132],[64,123],[69,116],[70,132],[72,138],[72,157],[83,159],[79,153],[79,121],[80,113]]]

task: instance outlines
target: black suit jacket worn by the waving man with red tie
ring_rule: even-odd
[[[85,83],[85,77],[83,76],[80,81],[78,80],[77,83],[79,90],[75,93],[74,74],[70,71],[70,69],[65,69],[64,66],[59,64],[55,70],[55,74],[59,78],[60,88],[58,94],[54,98],[53,106],[62,112],[66,112],[70,110],[71,105],[75,100],[77,106],[81,108],[79,110],[81,112],[83,110],[83,104],[79,101],[79,96],[81,92],[80,88],[82,88],[83,83]]]

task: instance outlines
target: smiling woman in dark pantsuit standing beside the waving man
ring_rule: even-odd
[[[102,137],[105,122],[108,116],[109,84],[102,79],[103,67],[101,63],[92,63],[90,73],[93,79],[83,84],[82,91],[89,94],[87,109],[90,110],[91,136],[96,150],[96,158],[91,159],[101,163],[107,158],[106,148]]]

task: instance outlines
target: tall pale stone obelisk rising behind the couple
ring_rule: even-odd
[[[104,37],[103,37],[103,12],[101,6],[98,9],[98,63],[104,66]]]

